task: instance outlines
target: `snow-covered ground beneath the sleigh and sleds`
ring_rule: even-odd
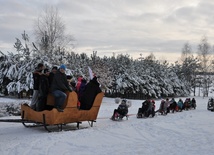
[[[133,115],[120,122],[109,119],[118,105],[113,98],[104,98],[94,126],[74,131],[48,133],[40,127],[0,122],[0,154],[213,155],[214,112],[207,110],[208,98],[195,98],[196,110],[147,119],[136,118],[142,100],[131,100],[129,114]],[[7,102],[5,98],[0,99]],[[156,108],[159,104],[157,100]],[[89,125],[84,122],[81,126]]]

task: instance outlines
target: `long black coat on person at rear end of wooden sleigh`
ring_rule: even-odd
[[[101,89],[99,87],[99,83],[97,82],[97,78],[95,77],[85,86],[85,90],[80,99],[80,109],[90,110],[93,106],[95,97],[100,92]]]

